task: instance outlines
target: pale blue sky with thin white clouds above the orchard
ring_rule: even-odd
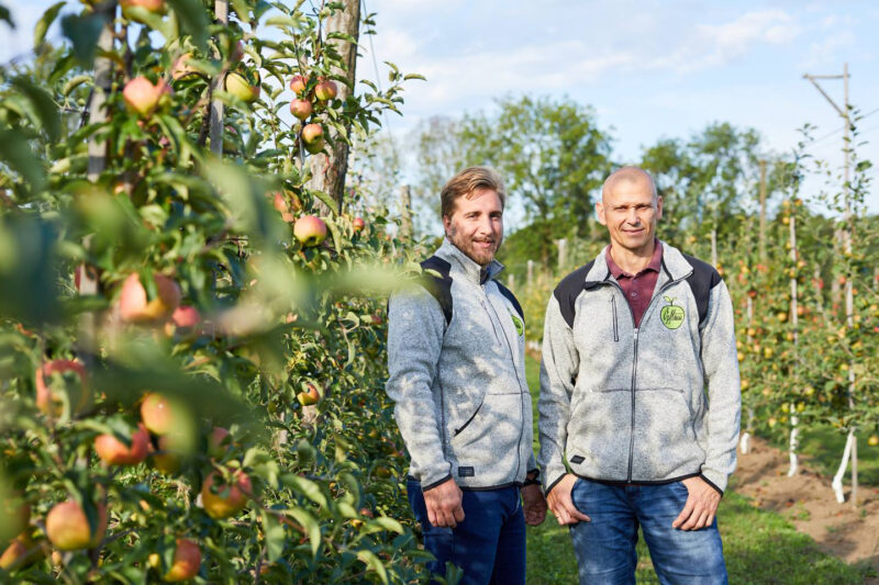
[[[2,1],[2,0],[0,0]],[[314,0],[316,3],[316,0]],[[26,52],[51,2],[5,0],[19,23],[0,59]],[[688,137],[715,121],[756,128],[788,151],[805,122],[811,153],[842,164],[842,121],[803,74],[841,74],[863,113],[861,158],[879,164],[879,2],[616,0],[364,0],[377,13],[380,65],[392,60],[427,82],[405,92],[402,138],[420,120],[490,110],[501,95],[567,95],[612,127],[615,156],[636,160],[660,137]],[[78,2],[69,2],[77,9]],[[57,35],[57,33],[55,33]],[[53,33],[49,33],[53,36]],[[368,41],[358,72],[374,77]],[[843,102],[842,81],[825,81]],[[875,112],[875,113],[874,113]],[[874,176],[877,172],[874,171]],[[816,184],[812,185],[817,188]],[[868,198],[879,212],[879,188]]]

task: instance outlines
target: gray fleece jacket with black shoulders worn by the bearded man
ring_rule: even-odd
[[[388,308],[388,395],[422,490],[521,484],[536,470],[524,322],[512,294],[445,240],[426,267],[432,284],[394,293]],[[424,265],[423,265],[424,266]],[[450,320],[446,323],[446,315]]]

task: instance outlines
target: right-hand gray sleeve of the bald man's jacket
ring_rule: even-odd
[[[735,347],[733,303],[721,281],[709,297],[702,330],[702,367],[708,389],[708,452],[702,477],[721,494],[735,470],[742,391]]]

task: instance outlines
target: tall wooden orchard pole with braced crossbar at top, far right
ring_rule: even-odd
[[[854,222],[853,213],[852,213],[852,196],[850,196],[850,189],[849,189],[849,167],[850,167],[850,156],[852,156],[852,119],[849,116],[849,103],[848,103],[848,64],[843,64],[843,75],[833,75],[833,76],[813,76],[805,74],[803,76],[805,79],[812,82],[815,86],[822,95],[833,105],[834,110],[839,114],[843,119],[843,132],[845,133],[843,137],[843,154],[844,154],[844,164],[843,164],[843,199],[845,201],[845,213],[843,216],[843,229],[839,230],[839,243],[843,248],[843,252],[848,257],[852,254],[852,224]],[[843,108],[836,105],[836,102],[827,95],[827,93],[822,89],[822,87],[817,83],[817,79],[842,79],[843,80]],[[836,282],[836,279],[834,279]],[[846,328],[852,330],[855,325],[855,307],[854,307],[854,290],[853,290],[853,282],[852,282],[852,274],[846,273],[845,280],[845,323]],[[848,407],[854,409],[855,407],[855,368],[854,363],[848,363]],[[852,426],[848,429],[848,437],[845,441],[845,450],[843,451],[843,460],[839,462],[839,469],[836,471],[836,475],[833,477],[833,490],[836,492],[836,500],[841,504],[845,502],[845,495],[843,494],[843,476],[845,475],[845,470],[848,466],[848,458],[852,458],[852,504],[857,506],[858,504],[858,445],[857,445],[857,435],[856,435],[856,427]]]

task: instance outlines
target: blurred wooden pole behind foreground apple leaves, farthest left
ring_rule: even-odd
[[[98,56],[94,59],[94,87],[89,100],[89,125],[101,124],[107,121],[107,110],[104,104],[110,95],[113,80],[113,60],[107,55],[113,50],[113,38],[115,37],[115,1],[105,2],[97,13],[103,19],[101,34],[98,37]],[[103,170],[107,168],[107,140],[98,139],[94,134],[89,138],[88,145],[88,179],[92,183],[98,182]],[[88,248],[88,238],[85,241]],[[79,277],[77,292],[81,296],[98,294],[98,274],[86,263],[77,267]],[[79,359],[90,365],[94,355],[94,314],[86,311],[79,319]]]

